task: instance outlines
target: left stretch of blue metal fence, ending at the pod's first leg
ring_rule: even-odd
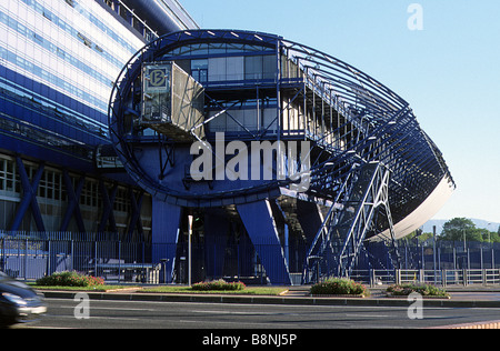
[[[107,281],[158,282],[147,243],[121,241],[0,239],[0,270],[21,280],[79,271]]]

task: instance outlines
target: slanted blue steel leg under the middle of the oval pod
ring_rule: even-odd
[[[272,284],[290,285],[290,273],[268,200],[240,204],[238,213]]]

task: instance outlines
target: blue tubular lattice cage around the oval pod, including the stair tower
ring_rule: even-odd
[[[148,141],[131,130],[130,120],[140,114],[134,94],[140,86],[141,67],[161,60],[221,57],[220,50],[211,53],[207,49],[201,53],[186,49],[211,43],[244,44],[261,48],[259,54],[274,54],[272,79],[203,82],[206,109],[214,114],[194,128],[204,128],[224,114],[240,129],[234,138],[244,141],[268,138],[311,141],[311,183],[307,195],[336,204],[311,243],[308,270],[312,261],[320,260],[334,267],[327,269],[328,273],[349,274],[363,240],[380,237],[389,229],[390,235],[382,239],[393,247],[393,223],[413,212],[442,179],[454,187],[441,152],[420,128],[409,103],[374,78],[328,53],[279,36],[189,30],[158,38],[131,58],[117,79],[109,106],[110,136],[117,153],[137,184],[159,201],[184,207],[222,207],[269,199],[290,185],[287,181],[269,181],[252,188],[221,189],[210,183],[204,193],[196,193],[183,171],[179,172],[184,177],[182,189],[172,185],[173,182],[159,181],[169,167],[184,164],[180,158],[173,160],[172,150],[178,147],[174,142]],[[248,52],[232,51],[228,57],[236,54]],[[231,114],[231,109],[246,100],[259,107],[263,96],[276,102],[276,116],[269,118],[268,126],[249,129]],[[292,109],[294,114],[290,113]],[[290,127],[293,118],[301,122],[297,128]],[[274,123],[276,132],[270,130]],[[154,154],[160,177],[158,172],[148,172],[147,167],[146,168],[141,163],[142,147],[158,148]],[[339,209],[340,204],[343,209]],[[353,211],[347,210],[350,208]]]

